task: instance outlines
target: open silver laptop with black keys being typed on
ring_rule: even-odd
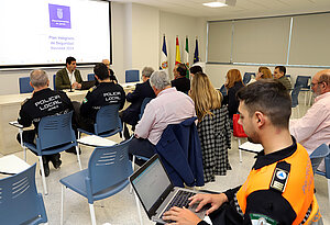
[[[201,220],[207,209],[196,213],[197,204],[188,206],[187,199],[198,191],[174,187],[167,176],[158,155],[154,155],[131,177],[130,182],[142,203],[150,220],[165,224],[162,220],[164,212],[172,206],[186,206]]]

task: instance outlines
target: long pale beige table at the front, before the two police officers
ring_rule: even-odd
[[[134,90],[136,82],[121,83],[125,92]],[[66,92],[72,101],[81,102],[87,90],[75,90]],[[22,94],[4,94],[0,95],[0,154],[8,155],[22,150],[21,145],[16,140],[19,130],[11,126],[9,122],[16,121],[22,102],[26,98],[31,98],[32,93]],[[124,109],[129,105],[125,102]]]

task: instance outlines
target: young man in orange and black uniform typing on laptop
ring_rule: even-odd
[[[262,144],[264,150],[242,187],[196,194],[189,204],[197,203],[199,211],[210,203],[207,214],[212,224],[321,224],[308,154],[288,131],[292,102],[285,87],[273,79],[258,80],[241,89],[238,98],[239,123],[250,142]],[[185,207],[172,207],[163,220],[207,224]]]

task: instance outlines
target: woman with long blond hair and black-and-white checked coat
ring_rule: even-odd
[[[222,94],[213,88],[206,74],[195,74],[189,95],[198,117],[205,182],[212,182],[215,176],[226,176],[231,169],[228,160],[231,144],[228,109],[221,105]]]

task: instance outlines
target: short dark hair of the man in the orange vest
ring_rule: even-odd
[[[292,98],[278,80],[257,80],[240,89],[237,97],[245,103],[250,116],[260,111],[270,117],[274,126],[288,128]]]

